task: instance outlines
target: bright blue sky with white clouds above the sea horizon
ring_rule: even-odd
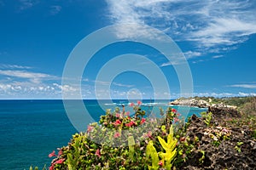
[[[73,48],[93,31],[126,23],[172,37],[188,60],[194,96],[256,95],[254,11],[253,0],[0,0],[0,99],[61,99],[61,91],[76,92],[78,86],[61,85]],[[166,92],[154,92],[150,80],[135,72],[96,81],[104,63],[129,53],[153,60],[169,82],[171,98],[180,97],[173,63],[146,45],[123,42],[102,48],[86,65],[84,99],[96,97],[96,82],[110,84],[115,99],[165,98]],[[104,90],[98,93],[106,98]]]

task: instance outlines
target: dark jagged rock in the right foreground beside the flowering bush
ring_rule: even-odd
[[[256,141],[251,137],[252,129],[224,124],[233,118],[214,116],[212,126],[207,126],[204,118],[193,115],[186,136],[190,140],[198,138],[198,146],[177,169],[256,169]]]

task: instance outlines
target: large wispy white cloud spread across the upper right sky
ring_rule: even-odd
[[[201,51],[222,51],[256,33],[253,0],[106,0],[113,23],[148,24]],[[120,28],[121,29],[121,28]],[[124,31],[126,32],[126,31]]]

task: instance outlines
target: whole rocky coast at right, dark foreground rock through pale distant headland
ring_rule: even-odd
[[[207,116],[191,116],[185,136],[197,142],[188,160],[177,169],[256,169],[255,99],[246,102],[252,104],[249,107],[245,107],[247,104],[214,105],[211,99],[172,102],[172,105],[208,108]]]

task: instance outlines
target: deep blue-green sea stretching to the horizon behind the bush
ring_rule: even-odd
[[[106,108],[128,105],[128,101],[123,99],[101,100],[101,103],[104,104],[103,109],[97,100],[84,100],[90,116],[96,121],[105,114]],[[159,103],[143,100],[143,107],[146,111],[151,111],[152,105],[154,109],[166,109],[167,103],[167,100]],[[189,109],[188,116],[206,111]],[[188,107],[180,107],[178,111],[183,114]],[[62,100],[0,100],[0,169],[24,170],[31,165],[42,168],[44,164],[49,167],[49,153],[67,145],[73,133],[77,130],[69,121]]]

